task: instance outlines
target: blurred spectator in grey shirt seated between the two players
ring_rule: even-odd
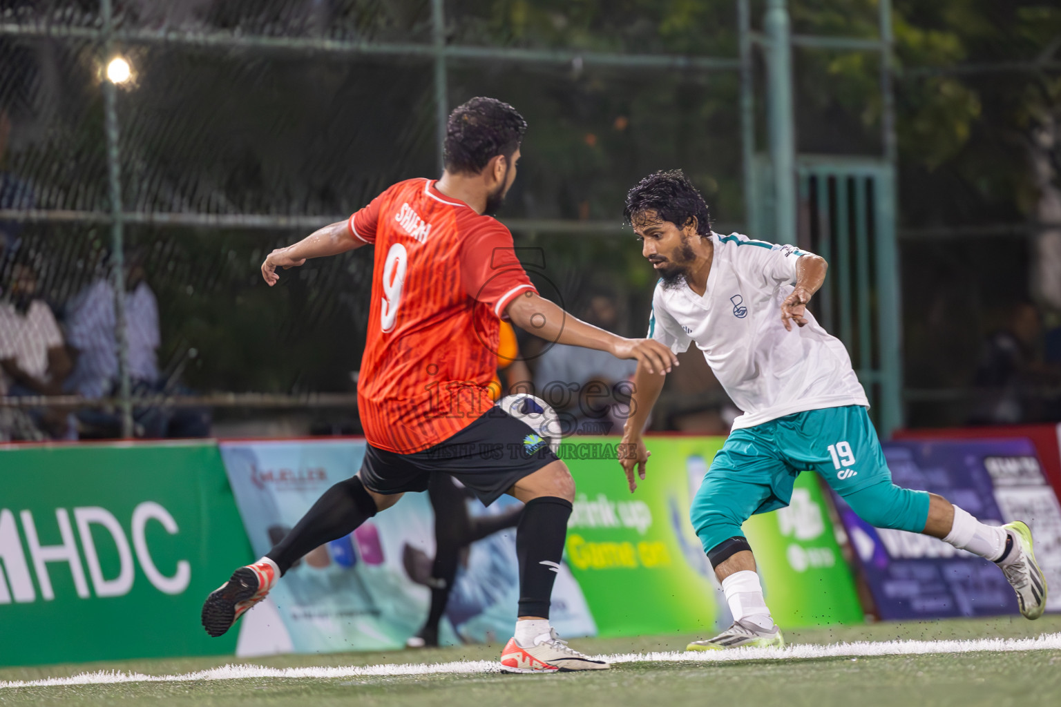
[[[619,308],[608,295],[594,295],[586,310],[589,323],[616,330]],[[626,394],[616,384],[628,381],[637,361],[615,358],[605,351],[557,343],[538,359],[535,371],[537,395],[560,414],[564,434],[606,435],[622,425],[627,411]]]

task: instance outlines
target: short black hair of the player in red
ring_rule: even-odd
[[[523,116],[497,99],[475,98],[446,121],[442,158],[447,172],[479,174],[493,157],[511,157],[527,131]]]

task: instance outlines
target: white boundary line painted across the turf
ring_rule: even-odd
[[[733,651],[622,653],[599,656],[608,662],[734,662],[742,660],[806,660],[880,655],[927,655],[939,653],[1013,651],[1061,651],[1061,633],[1038,638],[981,638],[977,640],[890,640],[832,643],[829,646],[789,646],[784,649],[744,648]],[[0,681],[0,689],[54,687],[64,685],[112,685],[118,683],[189,683],[197,681],[230,681],[248,677],[318,678],[377,677],[386,675],[481,674],[501,672],[495,660],[466,660],[436,664],[388,664],[380,666],[337,666],[321,668],[264,668],[262,666],[227,665],[181,675],[144,675],[99,671],[71,677],[49,677],[38,681]]]

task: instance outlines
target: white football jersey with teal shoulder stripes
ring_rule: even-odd
[[[714,260],[703,297],[681,283],[656,285],[648,336],[675,353],[696,342],[723,388],[744,412],[733,428],[794,412],[869,407],[847,349],[818,324],[785,331],[781,303],[796,285],[806,251],[733,233],[711,234]],[[812,302],[813,303],[813,302]]]

